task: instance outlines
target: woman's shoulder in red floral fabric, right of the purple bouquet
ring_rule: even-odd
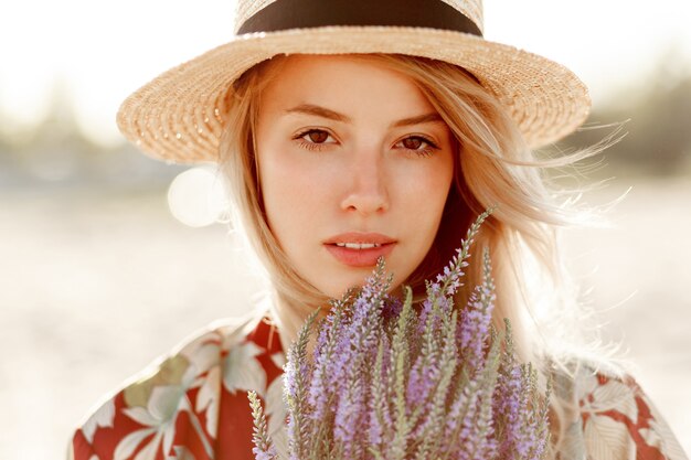
[[[553,376],[554,394],[571,413],[562,447],[571,454],[564,459],[687,459],[648,395],[624,370],[576,360]]]

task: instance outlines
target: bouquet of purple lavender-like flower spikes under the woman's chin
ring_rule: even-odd
[[[470,246],[490,211],[468,229],[457,255],[427,282],[415,308],[387,293],[383,259],[359,292],[332,302],[308,353],[313,313],[288,353],[285,399],[290,460],[540,459],[549,394],[519,364],[510,325],[491,325],[495,286],[483,281],[454,308]],[[549,391],[548,391],[549,393]],[[256,394],[249,393],[257,460],[279,459]]]

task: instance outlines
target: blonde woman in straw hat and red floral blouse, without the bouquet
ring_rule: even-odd
[[[530,149],[586,117],[577,77],[482,40],[479,1],[240,1],[237,18],[235,41],[141,88],[118,122],[149,154],[223,169],[274,288],[268,319],[171,353],[76,431],[75,459],[251,459],[248,389],[285,449],[277,377],[306,315],[380,256],[394,290],[421,293],[491,205],[476,247],[495,260],[497,323],[555,377],[550,458],[685,458],[632,379],[563,335],[574,301],[554,227],[578,214],[541,174],[588,153],[550,163]]]

